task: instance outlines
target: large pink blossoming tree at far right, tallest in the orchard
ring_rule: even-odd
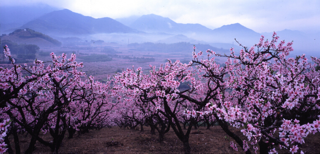
[[[246,139],[242,143],[234,139],[244,151],[256,152],[259,147],[260,153],[272,153],[278,146],[294,153],[296,143],[304,143],[309,133],[320,128],[320,72],[314,68],[320,60],[311,57],[312,65],[304,54],[286,58],[293,50],[292,42],[276,44],[277,40],[276,33],[270,41],[262,36],[254,46],[242,46],[239,55],[233,49],[230,55],[207,50],[227,57],[224,68],[229,69],[221,84],[228,90],[217,91],[220,98],[208,103],[207,109],[216,118],[241,127]],[[204,71],[203,76],[216,78],[210,71],[217,69],[207,69],[213,59],[194,63]]]

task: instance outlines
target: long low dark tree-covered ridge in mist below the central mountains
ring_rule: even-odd
[[[127,46],[140,51],[158,51],[158,52],[188,52],[193,51],[193,45],[196,46],[197,50],[205,51],[211,49],[217,53],[229,53],[229,50],[223,48],[213,47],[209,44],[191,44],[189,42],[178,42],[172,44],[166,43],[130,43]]]

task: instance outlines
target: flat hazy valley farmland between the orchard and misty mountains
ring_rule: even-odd
[[[114,48],[115,52],[105,53],[103,50],[107,48]],[[41,48],[42,52],[40,56],[37,54],[37,59],[49,61],[49,53],[54,52],[56,55],[61,55],[61,53],[75,53],[77,62],[83,62],[84,66],[81,68],[88,76],[94,76],[94,80],[103,81],[107,78],[107,75],[114,75],[115,72],[122,72],[122,68],[134,68],[142,67],[143,71],[149,70],[149,64],[159,67],[160,64],[164,64],[167,59],[172,61],[180,60],[182,63],[188,63],[192,59],[192,47],[187,51],[176,51],[174,53],[170,52],[158,52],[158,51],[148,51],[148,50],[138,50],[136,48],[127,47],[127,45],[117,44],[117,43],[107,43],[104,42],[95,46],[63,46],[63,47],[52,47],[52,48]],[[92,54],[104,54],[112,57],[109,61],[86,61],[84,57]],[[69,56],[69,54],[68,54]],[[154,61],[141,62],[133,59],[128,59],[128,57],[144,57],[144,58],[154,58]],[[217,62],[223,63],[226,58],[219,57],[216,59]]]

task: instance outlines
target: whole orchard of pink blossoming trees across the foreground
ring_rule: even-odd
[[[252,47],[235,54],[217,54],[208,49],[195,52],[193,60],[168,60],[123,69],[105,83],[80,71],[75,54],[50,54],[51,61],[16,64],[8,46],[4,55],[12,67],[0,67],[0,153],[32,153],[38,141],[58,153],[66,132],[119,126],[148,126],[158,141],[172,129],[190,153],[192,127],[217,123],[233,141],[234,150],[245,153],[303,153],[299,148],[307,135],[320,131],[320,59],[304,54],[288,57],[292,42],[261,36]],[[225,57],[225,65],[215,57]],[[87,78],[87,79],[84,79]],[[182,86],[183,85],[183,86]],[[235,127],[241,134],[231,129]],[[20,133],[31,138],[21,151]],[[48,133],[52,140],[39,134]],[[11,139],[12,140],[12,139]],[[195,152],[195,151],[194,151]]]

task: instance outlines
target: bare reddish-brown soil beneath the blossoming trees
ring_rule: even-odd
[[[149,127],[143,127],[144,131],[123,129],[119,127],[102,128],[101,130],[90,130],[81,135],[74,134],[71,139],[64,137],[59,153],[183,153],[182,142],[176,137],[173,130],[165,134],[163,142],[158,142],[158,135],[151,135]],[[239,151],[230,147],[233,139],[227,137],[219,126],[213,126],[210,130],[206,127],[192,129],[189,136],[191,153],[244,153],[238,146]],[[232,128],[232,131],[240,133]],[[45,140],[50,140],[48,134],[40,135]],[[241,136],[243,137],[243,136]],[[30,135],[20,135],[21,152],[28,145]],[[10,136],[13,144],[12,136]],[[309,134],[305,138],[305,144],[299,146],[304,153],[320,153],[320,133]],[[14,148],[14,145],[12,145]],[[47,146],[35,145],[33,153],[51,153]],[[279,150],[279,153],[288,153],[288,150]],[[299,153],[300,151],[298,151]]]

